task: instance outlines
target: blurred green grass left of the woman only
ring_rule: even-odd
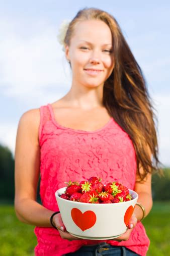
[[[20,222],[13,206],[0,206],[0,255],[33,256],[37,239],[34,226]]]

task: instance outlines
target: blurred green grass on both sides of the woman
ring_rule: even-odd
[[[33,256],[37,238],[34,226],[21,223],[13,206],[0,207],[0,255]],[[154,202],[153,208],[143,220],[146,233],[150,239],[147,256],[170,255],[170,201]]]

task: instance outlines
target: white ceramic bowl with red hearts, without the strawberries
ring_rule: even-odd
[[[138,194],[129,189],[132,200],[118,203],[84,203],[61,198],[66,187],[55,192],[58,208],[66,230],[73,236],[105,240],[113,239],[127,230]]]

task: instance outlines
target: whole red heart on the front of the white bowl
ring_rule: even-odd
[[[96,214],[93,211],[86,211],[83,214],[77,208],[71,210],[73,222],[82,230],[93,227],[96,223]]]

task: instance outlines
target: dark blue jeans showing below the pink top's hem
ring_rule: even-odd
[[[124,246],[113,246],[108,243],[99,243],[96,245],[81,246],[77,251],[63,254],[63,256],[135,256],[139,254]]]

